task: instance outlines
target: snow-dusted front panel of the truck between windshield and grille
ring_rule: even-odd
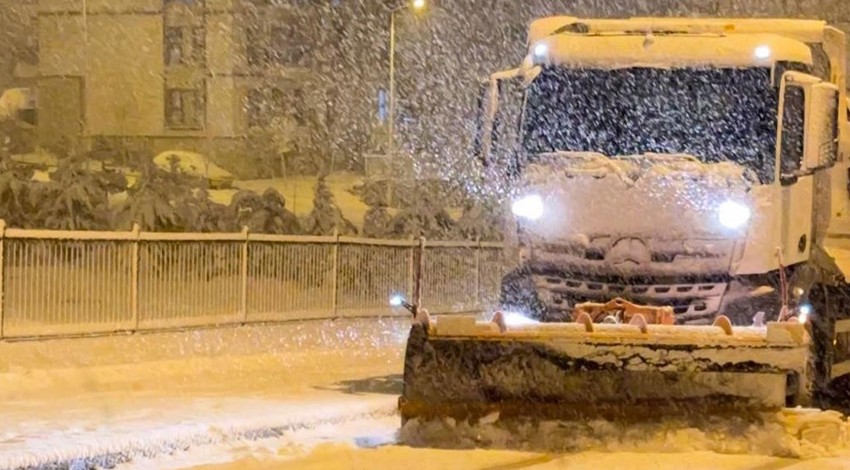
[[[544,217],[526,225],[543,239],[575,234],[726,238],[741,234],[728,233],[719,223],[719,207],[732,200],[760,212],[750,191],[755,184],[751,170],[732,162],[558,152],[527,165],[516,197],[543,199]]]

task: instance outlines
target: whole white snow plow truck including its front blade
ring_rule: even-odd
[[[846,407],[845,45],[811,20],[532,22],[479,95],[500,307],[414,299],[402,420]]]

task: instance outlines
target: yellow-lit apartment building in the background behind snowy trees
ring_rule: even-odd
[[[321,3],[39,0],[39,142],[238,160],[252,127],[288,116],[304,143],[324,115]]]

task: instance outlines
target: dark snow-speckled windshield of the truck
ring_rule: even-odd
[[[546,152],[608,156],[687,153],[773,175],[777,91],[768,68],[547,67],[527,91],[527,158]]]

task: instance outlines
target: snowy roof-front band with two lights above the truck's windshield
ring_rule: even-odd
[[[526,67],[535,64],[589,68],[754,67],[777,61],[812,64],[803,42],[774,34],[556,34],[530,47]]]

